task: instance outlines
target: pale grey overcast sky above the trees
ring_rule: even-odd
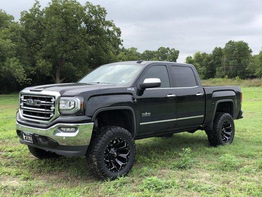
[[[39,0],[46,6],[49,0]],[[86,0],[79,0],[82,4]],[[138,51],[160,46],[180,51],[177,62],[196,51],[210,53],[229,40],[262,50],[262,0],[90,0],[107,9],[121,29],[123,45]],[[33,0],[0,0],[0,9],[20,18]]]

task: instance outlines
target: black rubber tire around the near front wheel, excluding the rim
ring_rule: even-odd
[[[129,145],[130,154],[127,163],[119,171],[111,171],[105,164],[105,151],[115,138],[123,138]],[[136,145],[132,134],[120,127],[109,126],[96,130],[87,149],[87,164],[92,174],[99,179],[116,179],[127,174],[135,160]],[[105,156],[105,157],[104,157]]]

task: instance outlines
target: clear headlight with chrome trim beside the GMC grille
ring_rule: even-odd
[[[84,100],[75,97],[61,97],[59,99],[59,112],[61,114],[79,113],[84,108]]]

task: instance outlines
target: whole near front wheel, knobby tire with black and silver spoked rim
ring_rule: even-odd
[[[130,132],[120,127],[104,127],[92,138],[87,161],[94,175],[101,179],[115,179],[132,168],[135,152]]]

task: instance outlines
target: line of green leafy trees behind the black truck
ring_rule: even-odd
[[[122,47],[121,30],[106,20],[106,9],[77,0],[52,0],[21,12],[19,22],[0,10],[0,93],[26,86],[76,82],[93,68],[112,62],[176,62],[179,50],[159,47],[138,52]],[[229,41],[212,53],[196,52],[185,60],[202,79],[262,76],[262,51],[252,56],[244,41]]]

